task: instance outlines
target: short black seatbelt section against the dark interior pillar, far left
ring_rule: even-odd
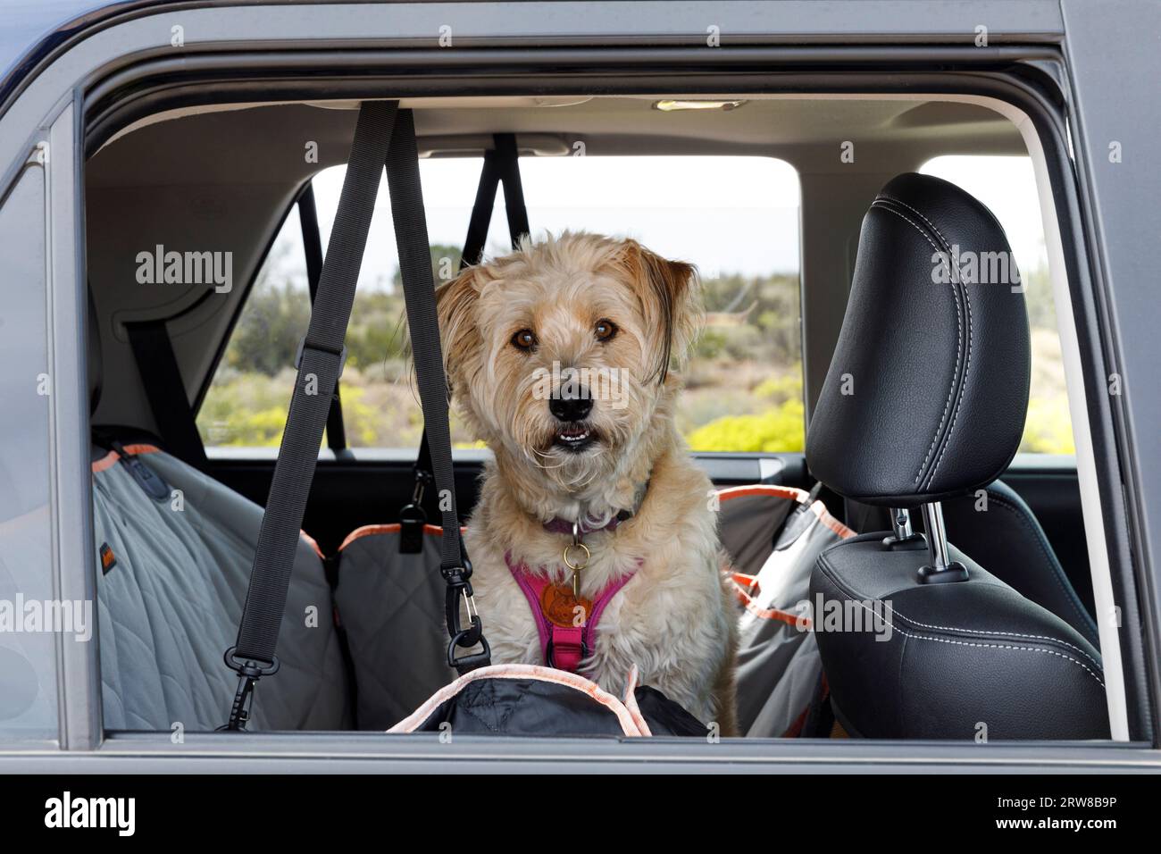
[[[166,451],[204,472],[209,467],[205,446],[197,433],[197,422],[186,396],[186,383],[181,379],[166,322],[127,323],[125,332]]]

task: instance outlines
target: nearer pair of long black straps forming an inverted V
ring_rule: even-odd
[[[460,537],[452,471],[447,382],[435,314],[435,289],[427,244],[427,224],[419,186],[419,159],[411,110],[397,101],[368,101],[359,110],[347,173],[331,231],[310,326],[300,347],[298,374],[274,480],[258,534],[250,590],[238,627],[238,643],[225,653],[238,673],[226,730],[241,730],[250,716],[254,686],[279,669],[274,654],[307,496],[318,461],[318,447],[330,410],[331,395],[342,372],[342,344],[354,303],[359,268],[370,229],[383,164],[391,192],[399,270],[403,275],[408,323],[411,328],[416,376],[424,419],[432,435],[432,471],[441,493],[444,540],[440,570],[447,583],[446,617],[450,643],[448,663],[460,673],[490,662],[483,625],[475,610],[471,564]],[[313,393],[311,393],[313,388]],[[470,622],[461,625],[460,603]],[[456,656],[457,648],[482,646],[482,652]]]

